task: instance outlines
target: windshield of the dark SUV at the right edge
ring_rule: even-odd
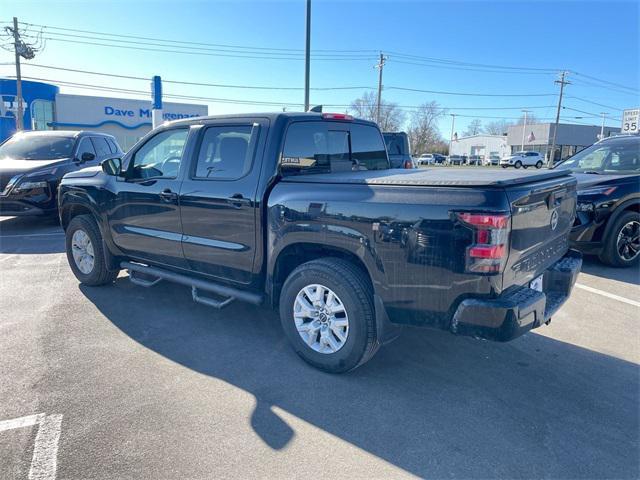
[[[596,143],[567,158],[556,168],[578,173],[640,173],[640,137]]]

